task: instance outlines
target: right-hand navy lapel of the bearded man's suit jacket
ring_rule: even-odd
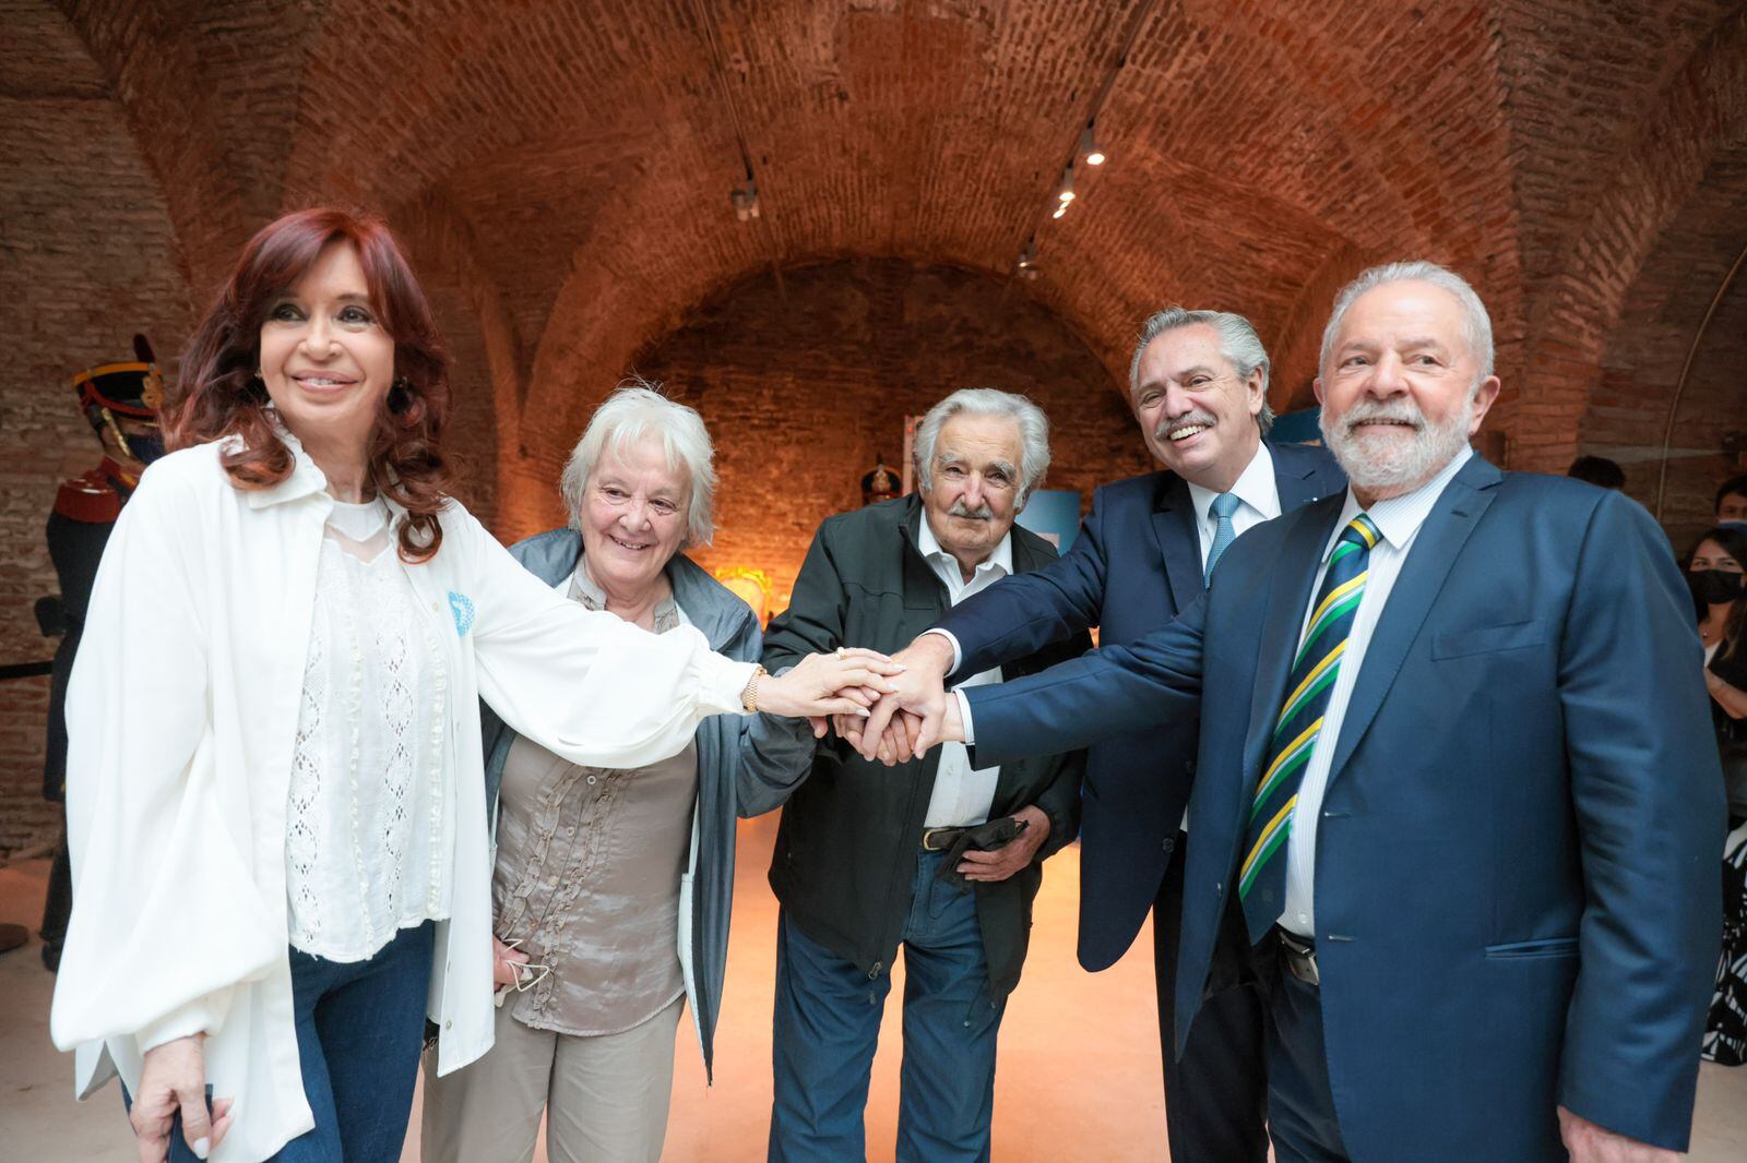
[[[1450,568],[1492,505],[1492,485],[1499,480],[1502,480],[1499,470],[1476,456],[1445,487],[1438,505],[1426,517],[1401,575],[1389,590],[1389,604],[1384,606],[1371,641],[1364,648],[1359,678],[1340,723],[1335,761],[1328,768],[1331,784],[1364,739],[1377,709],[1384,705],[1389,686],[1396,681],[1420,627],[1426,625],[1445,578],[1450,576]]]

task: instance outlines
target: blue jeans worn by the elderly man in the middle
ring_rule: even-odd
[[[898,1160],[989,1158],[1003,1002],[989,997],[977,896],[935,878],[919,852],[903,926],[903,1072]],[[863,1109],[891,978],[807,938],[784,915],[776,946],[770,1163],[867,1158]]]

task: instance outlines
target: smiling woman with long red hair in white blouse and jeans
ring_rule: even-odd
[[[66,700],[52,1034],[80,1093],[121,1074],[142,1160],[393,1160],[426,1016],[438,1072],[489,1049],[517,967],[479,698],[638,768],[704,716],[853,712],[894,671],[769,678],[566,601],[449,499],[447,410],[393,236],[337,210],[257,234],[183,354]]]

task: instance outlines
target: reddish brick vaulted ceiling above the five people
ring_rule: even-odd
[[[636,353],[735,279],[833,257],[1008,278],[1032,234],[1041,278],[1019,293],[1113,382],[1150,309],[1223,306],[1275,351],[1277,403],[1307,389],[1345,278],[1384,257],[1450,262],[1497,320],[1513,463],[1562,465],[1639,267],[1714,159],[1747,141],[1747,17],[1714,0],[0,0],[0,14],[35,61],[5,54],[7,96],[84,86],[122,103],[196,299],[281,210],[381,208],[472,307],[500,485],[549,480]],[[1099,117],[1111,161],[1048,220],[1130,31]],[[728,204],[741,134],[763,211],[748,224]],[[1737,248],[1742,197],[1719,239]]]

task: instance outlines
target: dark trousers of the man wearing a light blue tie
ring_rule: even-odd
[[[1267,1002],[1254,981],[1226,987],[1195,1015],[1177,1060],[1177,932],[1188,833],[1177,833],[1153,903],[1158,1044],[1165,1058],[1165,1133],[1179,1163],[1261,1163],[1268,1156]]]

